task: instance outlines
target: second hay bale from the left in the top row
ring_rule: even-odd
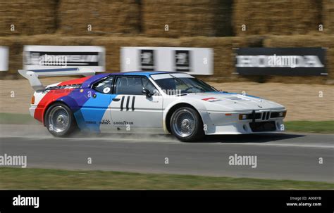
[[[58,23],[62,34],[135,34],[140,30],[140,5],[135,0],[61,0]]]

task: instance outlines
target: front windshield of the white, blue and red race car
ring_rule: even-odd
[[[159,77],[153,77],[153,79],[168,95],[218,91],[213,86],[187,74],[161,75]]]

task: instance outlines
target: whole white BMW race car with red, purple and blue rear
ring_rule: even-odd
[[[30,115],[54,136],[76,130],[173,134],[180,141],[205,135],[283,131],[283,105],[218,91],[182,72],[19,70],[35,90]],[[43,86],[38,77],[85,75]]]

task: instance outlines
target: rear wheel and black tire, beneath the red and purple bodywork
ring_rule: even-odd
[[[68,122],[66,125],[65,121]],[[51,105],[44,117],[48,131],[56,137],[65,137],[74,134],[78,130],[73,112],[63,103]]]

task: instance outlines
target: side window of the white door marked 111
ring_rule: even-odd
[[[149,79],[144,77],[118,77],[116,80],[116,94],[142,95],[143,89],[148,89],[152,93],[156,90]]]

